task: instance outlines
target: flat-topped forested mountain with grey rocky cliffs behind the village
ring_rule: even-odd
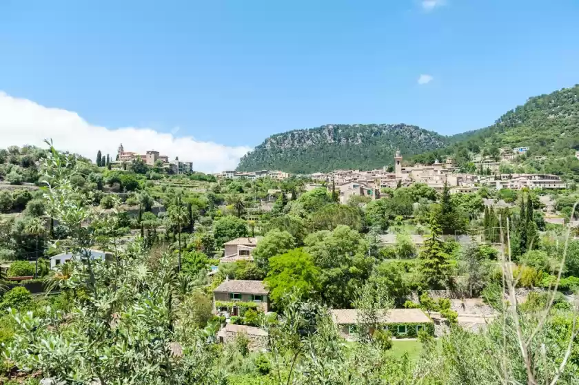
[[[398,148],[403,154],[412,155],[448,143],[445,136],[415,125],[323,125],[270,136],[241,158],[238,171],[374,169],[392,165]]]

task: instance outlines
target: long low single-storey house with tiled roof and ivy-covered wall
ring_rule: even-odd
[[[331,313],[340,335],[354,340],[360,321],[358,309],[332,309]],[[378,323],[398,338],[416,337],[421,330],[434,335],[434,322],[420,309],[390,309],[384,311]]]

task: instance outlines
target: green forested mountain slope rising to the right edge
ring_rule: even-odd
[[[527,103],[500,116],[489,127],[450,136],[444,149],[414,156],[427,163],[454,156],[465,163],[469,152],[496,152],[498,147],[530,148],[529,158],[565,158],[579,148],[579,85],[529,98]]]

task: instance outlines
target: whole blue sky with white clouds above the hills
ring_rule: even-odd
[[[492,124],[579,83],[576,0],[0,0],[0,147],[221,171],[272,134]]]

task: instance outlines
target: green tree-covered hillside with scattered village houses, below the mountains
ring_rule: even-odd
[[[72,166],[54,171],[51,165],[60,158]],[[165,340],[170,352],[159,354],[174,362],[190,354],[187,346],[197,338],[192,335],[205,333],[223,354],[232,350],[243,362],[261,357],[287,368],[276,346],[295,335],[278,328],[290,322],[292,311],[305,317],[305,309],[317,309],[312,311],[321,322],[312,326],[312,336],[331,324],[324,333],[332,340],[380,352],[387,360],[398,362],[404,351],[412,360],[431,360],[428,352],[439,354],[437,341],[457,330],[474,338],[511,316],[493,295],[534,311],[547,300],[560,269],[553,303],[564,317],[576,305],[579,232],[572,207],[579,193],[558,176],[493,174],[484,171],[485,165],[494,167],[485,161],[482,173],[465,173],[451,158],[407,165],[400,152],[391,169],[301,176],[203,174],[167,163],[154,151],[143,160],[122,146],[118,161],[104,163],[102,156],[92,162],[54,147],[13,146],[0,150],[0,160],[0,271],[6,288],[0,337],[11,346],[10,365],[28,362],[25,346],[36,342],[20,333],[7,309],[39,315],[47,304],[63,313],[75,306],[89,309],[84,306],[93,299],[79,298],[69,286],[85,269],[98,269],[103,279],[116,271],[127,280],[113,313],[130,312],[126,304],[139,301],[143,292],[135,290],[134,280],[136,287],[152,288],[163,286],[163,274],[172,277],[167,284],[178,298],[176,310],[159,317],[171,314],[178,327]],[[505,155],[499,167],[511,160]],[[39,189],[43,175],[54,172],[66,182]],[[67,210],[85,214],[77,219]],[[569,255],[562,262],[559,245],[566,231]],[[75,239],[85,246],[75,247]],[[139,267],[154,269],[146,282]],[[518,274],[513,290],[501,292],[501,277],[514,280]],[[100,280],[94,300],[110,290]],[[92,290],[90,283],[82,285]],[[78,322],[133,322],[114,319],[90,315]],[[41,333],[50,335],[52,326]],[[298,367],[308,362],[301,355]],[[243,377],[236,368],[230,371]],[[257,380],[269,377],[252,373]]]

